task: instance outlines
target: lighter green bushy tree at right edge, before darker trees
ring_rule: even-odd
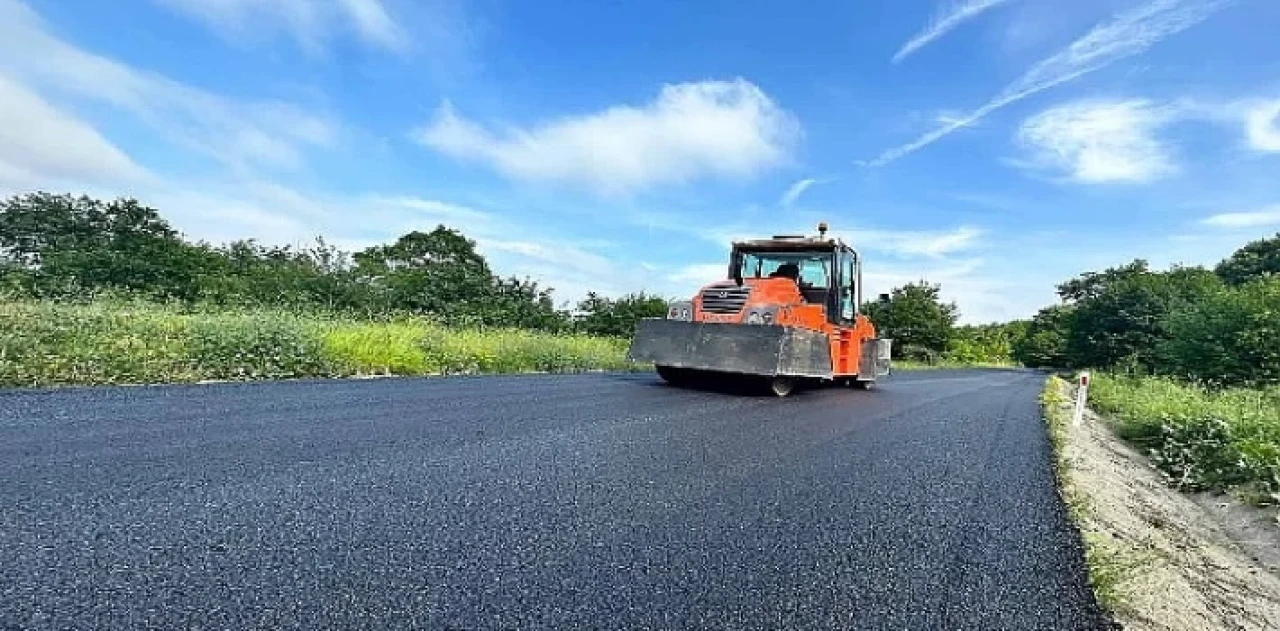
[[[1211,292],[1165,326],[1164,372],[1210,385],[1280,384],[1280,276]]]

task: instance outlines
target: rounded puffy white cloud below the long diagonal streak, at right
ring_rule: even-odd
[[[1030,116],[1018,140],[1033,166],[1076,182],[1148,182],[1175,170],[1171,150],[1156,138],[1174,115],[1146,100],[1082,100]]]

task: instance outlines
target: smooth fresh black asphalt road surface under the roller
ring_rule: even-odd
[[[0,392],[3,628],[1098,628],[1043,375]]]

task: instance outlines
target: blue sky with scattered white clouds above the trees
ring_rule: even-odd
[[[832,225],[968,323],[1280,230],[1271,0],[0,0],[0,192],[188,237],[438,223],[562,301]]]

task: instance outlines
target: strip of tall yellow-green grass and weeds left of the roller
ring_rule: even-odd
[[[639,369],[626,340],[270,310],[0,301],[0,385]]]

